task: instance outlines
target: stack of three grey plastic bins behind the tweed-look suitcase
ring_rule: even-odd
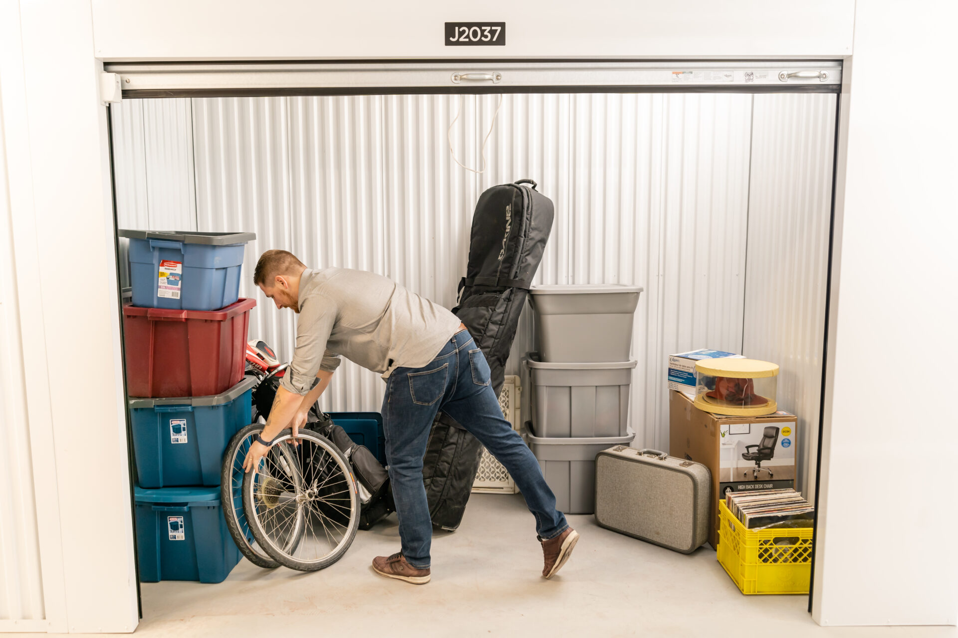
[[[537,352],[529,369],[529,445],[566,514],[595,510],[595,457],[628,445],[632,323],[642,288],[619,284],[537,286]]]

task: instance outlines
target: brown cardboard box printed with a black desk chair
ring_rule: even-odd
[[[719,543],[719,495],[755,489],[794,488],[797,419],[787,412],[765,416],[725,416],[704,412],[683,392],[669,393],[669,453],[701,463],[712,473],[712,519],[709,544]],[[776,428],[771,459],[761,461],[763,472],[756,477],[755,461],[741,458],[745,446],[757,445],[766,427]],[[748,451],[756,451],[750,448]],[[764,472],[771,470],[772,476]]]

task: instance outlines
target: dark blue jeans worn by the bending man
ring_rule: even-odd
[[[539,538],[552,539],[569,527],[556,510],[556,496],[546,485],[536,456],[502,416],[486,357],[463,330],[431,363],[398,367],[386,381],[382,403],[386,460],[402,554],[409,564],[419,569],[429,566],[432,521],[422,484],[422,456],[440,410],[479,439],[509,471],[536,517]]]

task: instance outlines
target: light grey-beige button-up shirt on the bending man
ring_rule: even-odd
[[[281,385],[307,394],[319,370],[335,370],[342,355],[390,375],[422,367],[459,328],[459,318],[381,275],[345,268],[300,276],[296,350]]]

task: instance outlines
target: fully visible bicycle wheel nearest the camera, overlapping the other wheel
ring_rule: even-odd
[[[274,561],[290,569],[316,571],[338,561],[359,526],[359,494],[349,461],[331,442],[307,429],[299,445],[286,442],[286,429],[273,448],[286,455],[263,456],[257,473],[246,473],[243,509],[253,537]],[[290,539],[300,535],[293,543]]]

